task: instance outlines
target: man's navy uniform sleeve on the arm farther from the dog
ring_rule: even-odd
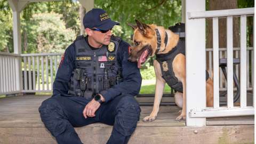
[[[53,82],[53,97],[68,94],[68,82],[75,66],[75,46],[71,44],[61,58],[60,65]]]

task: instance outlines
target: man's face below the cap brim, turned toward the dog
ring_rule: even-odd
[[[99,44],[102,45],[109,45],[110,43],[110,38],[111,38],[111,30],[95,30],[95,29],[90,29],[91,30],[91,37],[93,40]]]

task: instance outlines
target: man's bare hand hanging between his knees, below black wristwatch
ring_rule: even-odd
[[[105,101],[105,99],[101,96],[101,100]],[[83,111],[83,115],[85,118],[87,118],[87,116],[89,117],[94,117],[95,116],[95,111],[100,107],[100,103],[98,101],[95,101],[94,99],[92,99],[89,103],[87,103],[87,105],[84,108]]]

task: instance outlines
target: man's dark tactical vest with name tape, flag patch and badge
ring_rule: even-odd
[[[108,46],[92,50],[84,36],[76,38],[76,66],[69,81],[69,94],[92,98],[122,82],[122,69],[116,58],[120,42],[121,38],[111,36]]]

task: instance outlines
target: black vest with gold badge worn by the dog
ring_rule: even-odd
[[[173,59],[178,54],[185,55],[185,40],[180,40],[169,53],[166,54],[157,54],[156,60],[160,63],[162,77],[165,82],[175,91],[183,93],[182,83],[175,77],[172,67]],[[206,81],[209,78],[209,73],[206,71]]]

